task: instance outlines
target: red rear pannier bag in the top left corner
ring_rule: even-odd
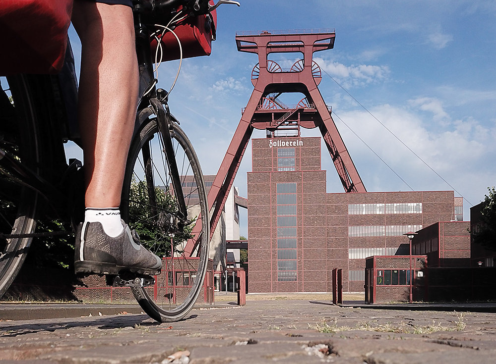
[[[57,73],[72,0],[0,0],[0,75]]]

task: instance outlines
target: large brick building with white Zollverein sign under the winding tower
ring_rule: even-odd
[[[462,218],[453,191],[327,193],[320,143],[252,140],[249,292],[330,292],[333,268],[363,292],[367,257],[408,254],[403,233]]]

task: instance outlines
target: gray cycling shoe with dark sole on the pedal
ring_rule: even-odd
[[[79,224],[76,229],[74,269],[76,273],[119,274],[122,271],[156,275],[162,260],[146,250],[135,230],[124,224],[121,235],[108,236],[99,222]]]

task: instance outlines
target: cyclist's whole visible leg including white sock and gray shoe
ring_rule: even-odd
[[[75,1],[72,21],[82,46],[78,117],[87,184],[76,271],[152,274],[160,259],[134,244],[118,209],[138,93],[132,11]]]

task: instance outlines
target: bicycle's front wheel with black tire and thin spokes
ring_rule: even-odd
[[[207,195],[198,158],[189,139],[177,123],[172,124],[170,132],[181,186],[173,186],[168,156],[163,153],[163,141],[157,119],[155,115],[151,116],[152,118],[145,121],[129,149],[121,210],[123,219],[131,228],[138,230],[138,233],[144,230],[148,234],[148,240],[154,241],[148,246],[146,243],[143,244],[155,254],[165,256],[162,261],[162,272],[155,277],[155,285],[132,287],[132,293],[143,311],[150,317],[159,322],[170,322],[186,316],[193,308],[203,286],[209,248]],[[148,172],[145,172],[145,166],[148,166]],[[186,259],[189,254],[185,253],[184,248],[188,240],[186,238],[188,233],[185,233],[185,230],[191,230],[194,223],[187,225],[186,228],[178,228],[175,223],[171,223],[172,226],[169,224],[164,226],[162,219],[160,226],[157,224],[159,217],[165,215],[172,222],[172,219],[179,215],[177,211],[179,204],[177,200],[175,202],[173,192],[177,188],[182,188],[185,193],[189,215],[194,214],[201,224],[200,237],[199,239],[195,237],[199,241],[197,241],[195,258],[192,260]],[[146,195],[144,202],[143,192]],[[141,210],[137,208],[138,206]],[[176,217],[173,217],[174,215]],[[147,229],[152,231],[149,232]],[[174,236],[171,236],[172,234]],[[169,243],[171,239],[174,244]]]

